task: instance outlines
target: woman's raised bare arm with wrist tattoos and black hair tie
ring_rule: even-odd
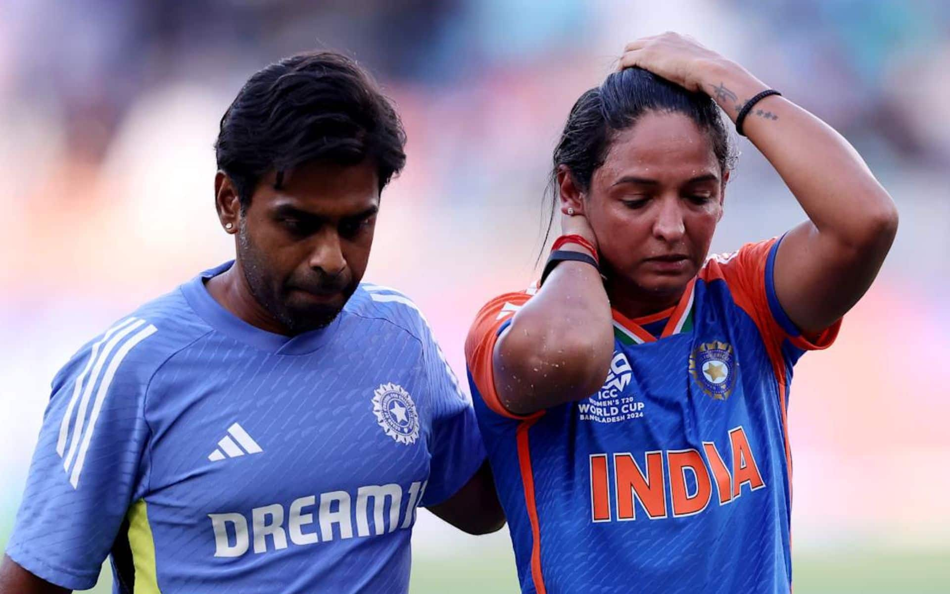
[[[733,120],[767,88],[727,61],[700,71],[701,87]],[[897,209],[854,147],[788,99],[765,97],[742,127],[808,216],[782,240],[773,281],[791,320],[817,332],[870,287],[897,233]]]

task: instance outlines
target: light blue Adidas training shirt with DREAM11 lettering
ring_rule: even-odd
[[[361,284],[294,337],[233,316],[206,271],[56,375],[7,554],[71,589],[406,592],[415,508],[485,460],[409,298]]]

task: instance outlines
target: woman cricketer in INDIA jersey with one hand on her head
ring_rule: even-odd
[[[788,592],[792,366],[832,343],[897,212],[840,134],[692,39],[640,39],[620,67],[555,150],[540,285],[466,340],[522,591]],[[708,257],[723,112],[807,220]]]

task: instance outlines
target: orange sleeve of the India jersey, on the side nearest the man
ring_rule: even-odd
[[[504,408],[502,401],[495,391],[495,375],[492,362],[495,353],[495,342],[505,323],[509,322],[524,303],[531,296],[525,292],[505,293],[495,297],[485,304],[485,307],[475,316],[472,327],[466,338],[466,365],[468,373],[478,393],[485,400],[485,405],[494,412],[511,419],[524,420],[539,416],[541,411],[532,414],[515,414]]]

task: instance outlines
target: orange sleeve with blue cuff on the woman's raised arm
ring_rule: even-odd
[[[785,340],[802,351],[826,349],[838,335],[841,319],[819,333],[803,334],[775,296],[772,263],[780,240],[747,243],[732,254],[713,256],[700,275],[707,281],[726,281],[736,305],[755,322],[771,353],[772,349],[780,349]]]

